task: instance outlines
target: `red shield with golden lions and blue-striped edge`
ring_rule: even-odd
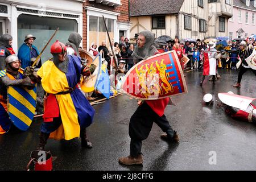
[[[187,85],[175,51],[148,57],[126,73],[122,91],[139,100],[157,100],[187,93]]]

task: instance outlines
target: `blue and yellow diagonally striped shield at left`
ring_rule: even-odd
[[[18,86],[7,89],[8,112],[11,121],[18,129],[26,131],[36,110],[36,87],[32,90]]]

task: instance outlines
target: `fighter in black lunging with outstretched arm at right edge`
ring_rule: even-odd
[[[236,50],[226,50],[225,52],[228,53],[238,53],[238,55],[240,56],[240,59],[242,60],[242,66],[240,67],[240,71],[238,73],[238,80],[237,80],[237,84],[233,85],[233,87],[237,87],[240,88],[241,87],[241,80],[242,80],[242,76],[246,71],[251,70],[255,76],[256,76],[256,70],[251,69],[249,67],[249,65],[246,62],[246,58],[249,57],[252,53],[253,53],[253,48],[249,48],[246,46],[246,42],[242,41],[240,43],[240,49],[236,49]]]

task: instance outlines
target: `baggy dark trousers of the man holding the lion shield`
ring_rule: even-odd
[[[137,108],[135,113],[131,116],[129,123],[129,135],[131,138],[130,155],[137,157],[141,154],[142,140],[146,139],[150,134],[153,123],[156,123],[167,136],[174,137],[174,130],[172,130],[165,115],[159,117],[150,106],[144,102]]]

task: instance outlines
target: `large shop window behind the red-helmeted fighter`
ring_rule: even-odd
[[[51,45],[60,40],[62,43],[68,42],[68,36],[71,32],[77,32],[77,22],[74,19],[51,18],[34,15],[22,14],[18,17],[18,48],[24,43],[24,38],[27,34],[32,34],[36,37],[34,46],[40,51],[47,44],[53,32],[59,27],[59,31],[53,37],[48,47],[42,55],[44,63],[52,57],[50,53]]]

